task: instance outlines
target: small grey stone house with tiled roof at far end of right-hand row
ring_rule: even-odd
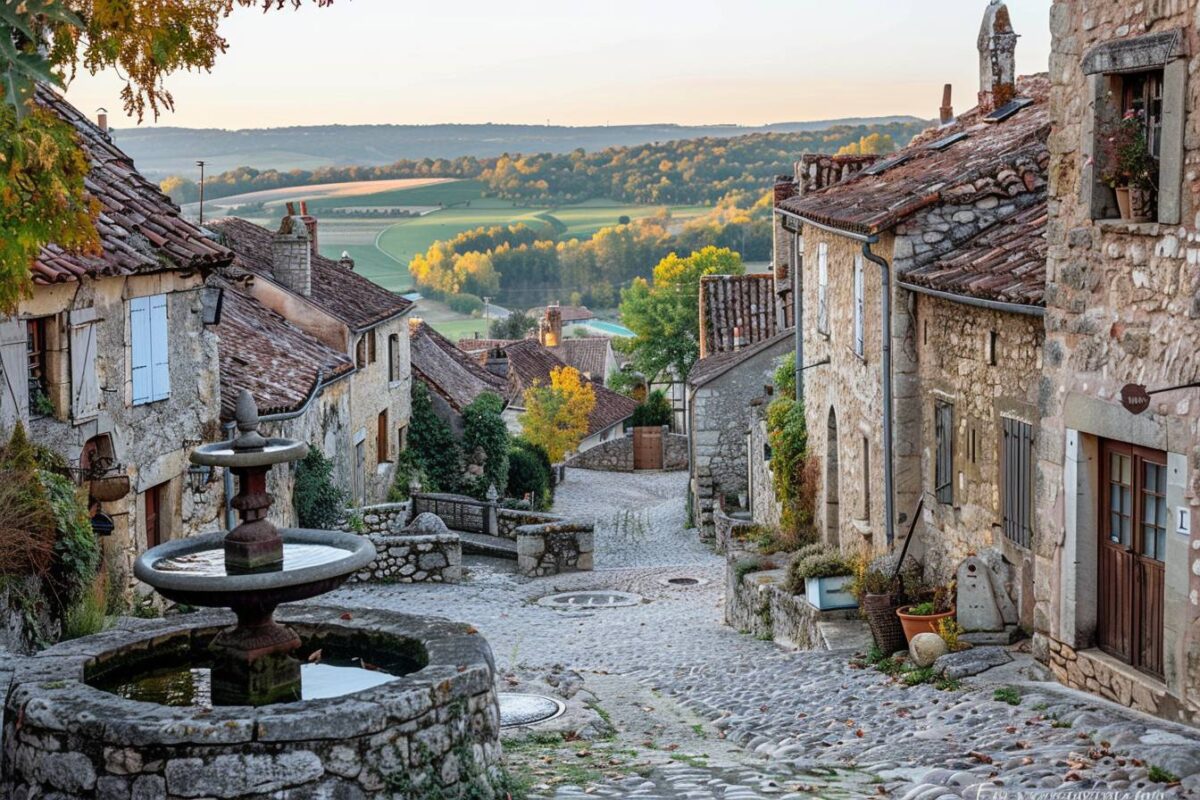
[[[702,536],[713,510],[730,511],[750,486],[746,437],[751,402],[792,353],[792,305],[774,273],[707,275],[700,281],[700,359],[686,380],[689,503]],[[730,501],[732,500],[732,503]]]

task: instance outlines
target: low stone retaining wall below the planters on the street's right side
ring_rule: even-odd
[[[739,576],[738,565],[749,559],[756,559],[760,567]],[[731,552],[725,567],[725,624],[785,648],[827,649],[820,624],[854,620],[858,610],[821,612],[804,595],[790,593],[784,585],[790,560],[786,554]]]

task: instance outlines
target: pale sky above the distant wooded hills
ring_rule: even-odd
[[[1046,70],[1051,0],[1008,0],[1018,72]],[[226,22],[158,125],[762,125],[974,104],[985,0],[337,0]],[[68,98],[126,127],[114,76]],[[152,124],[148,120],[146,124]]]

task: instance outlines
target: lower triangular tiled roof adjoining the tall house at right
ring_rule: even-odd
[[[952,294],[1043,306],[1046,251],[1046,199],[1042,197],[900,279]]]

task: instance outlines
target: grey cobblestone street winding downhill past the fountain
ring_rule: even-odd
[[[724,560],[685,530],[685,481],[572,471],[556,511],[595,518],[594,572],[530,581],[478,559],[461,585],[364,584],[328,601],[474,625],[494,650],[502,691],[578,673],[578,697],[616,734],[506,730],[510,769],[536,780],[536,796],[934,800],[1016,798],[1016,788],[1062,789],[1032,795],[1045,798],[1080,796],[1068,789],[1200,796],[1192,729],[1030,681],[1012,666],[956,691],[907,688],[853,668],[848,651],[790,652],[722,625]],[[580,610],[535,602],[592,589],[642,602]],[[1015,687],[1018,704],[994,699],[997,686]],[[1181,781],[1154,782],[1152,768]]]

